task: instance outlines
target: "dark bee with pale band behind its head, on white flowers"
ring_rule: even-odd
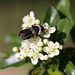
[[[28,29],[21,30],[18,33],[18,37],[25,40],[34,35],[41,37],[41,33],[44,31],[44,27],[42,25],[32,25]]]

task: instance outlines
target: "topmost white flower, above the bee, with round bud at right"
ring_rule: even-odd
[[[26,29],[28,27],[31,27],[32,25],[39,24],[40,20],[36,19],[34,16],[34,12],[31,11],[30,15],[27,15],[23,18],[23,22],[24,23],[22,24],[22,28]]]

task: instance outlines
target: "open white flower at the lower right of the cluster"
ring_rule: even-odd
[[[43,51],[46,52],[50,58],[52,58],[56,55],[59,55],[58,48],[59,48],[58,42],[53,43],[52,41],[49,41],[48,46],[44,47]]]

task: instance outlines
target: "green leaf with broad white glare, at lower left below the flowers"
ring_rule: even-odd
[[[18,67],[23,64],[26,64],[26,60],[20,60],[15,57],[15,54],[12,54],[10,56],[5,57],[1,62],[0,62],[0,69],[5,69],[8,67]]]

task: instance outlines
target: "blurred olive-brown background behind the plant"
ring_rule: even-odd
[[[9,46],[5,44],[5,37],[11,33],[21,30],[22,18],[31,10],[35,12],[36,18],[44,19],[45,12],[49,6],[58,4],[60,0],[0,0],[0,51],[7,52]],[[75,0],[71,1],[71,12],[75,16]],[[66,46],[75,46],[71,40]],[[28,75],[31,64],[18,68],[0,70],[0,75]]]

